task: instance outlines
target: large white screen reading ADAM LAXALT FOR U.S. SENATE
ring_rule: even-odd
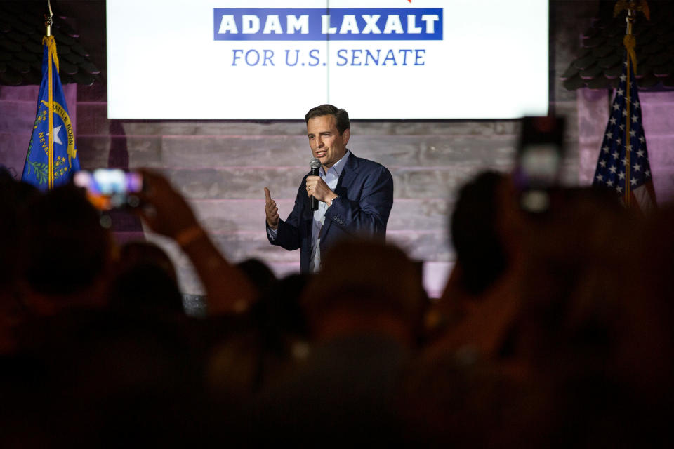
[[[545,115],[548,2],[108,0],[107,76],[110,119]]]

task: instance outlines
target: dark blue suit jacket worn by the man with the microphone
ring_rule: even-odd
[[[286,250],[300,248],[300,271],[309,272],[311,230],[314,212],[311,210],[305,183],[300,183],[295,207],[288,218],[279,220],[279,230],[272,245]],[[325,213],[321,231],[321,254],[336,241],[347,236],[369,236],[385,240],[386,223],[393,206],[393,177],[380,163],[361,159],[351,153],[334,192],[339,195]]]

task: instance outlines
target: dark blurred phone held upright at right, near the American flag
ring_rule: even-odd
[[[564,126],[563,117],[522,118],[513,180],[520,192],[520,207],[527,212],[546,212],[550,207],[550,189],[560,185]]]

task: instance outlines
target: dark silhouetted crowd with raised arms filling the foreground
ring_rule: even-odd
[[[174,239],[208,316],[153,243],[117,245],[84,192],[0,173],[0,447],[670,447],[674,208],[508,175],[457,194],[440,298],[364,240],[319,274],[228,261],[169,182],[138,213]],[[260,219],[261,220],[261,219]]]

